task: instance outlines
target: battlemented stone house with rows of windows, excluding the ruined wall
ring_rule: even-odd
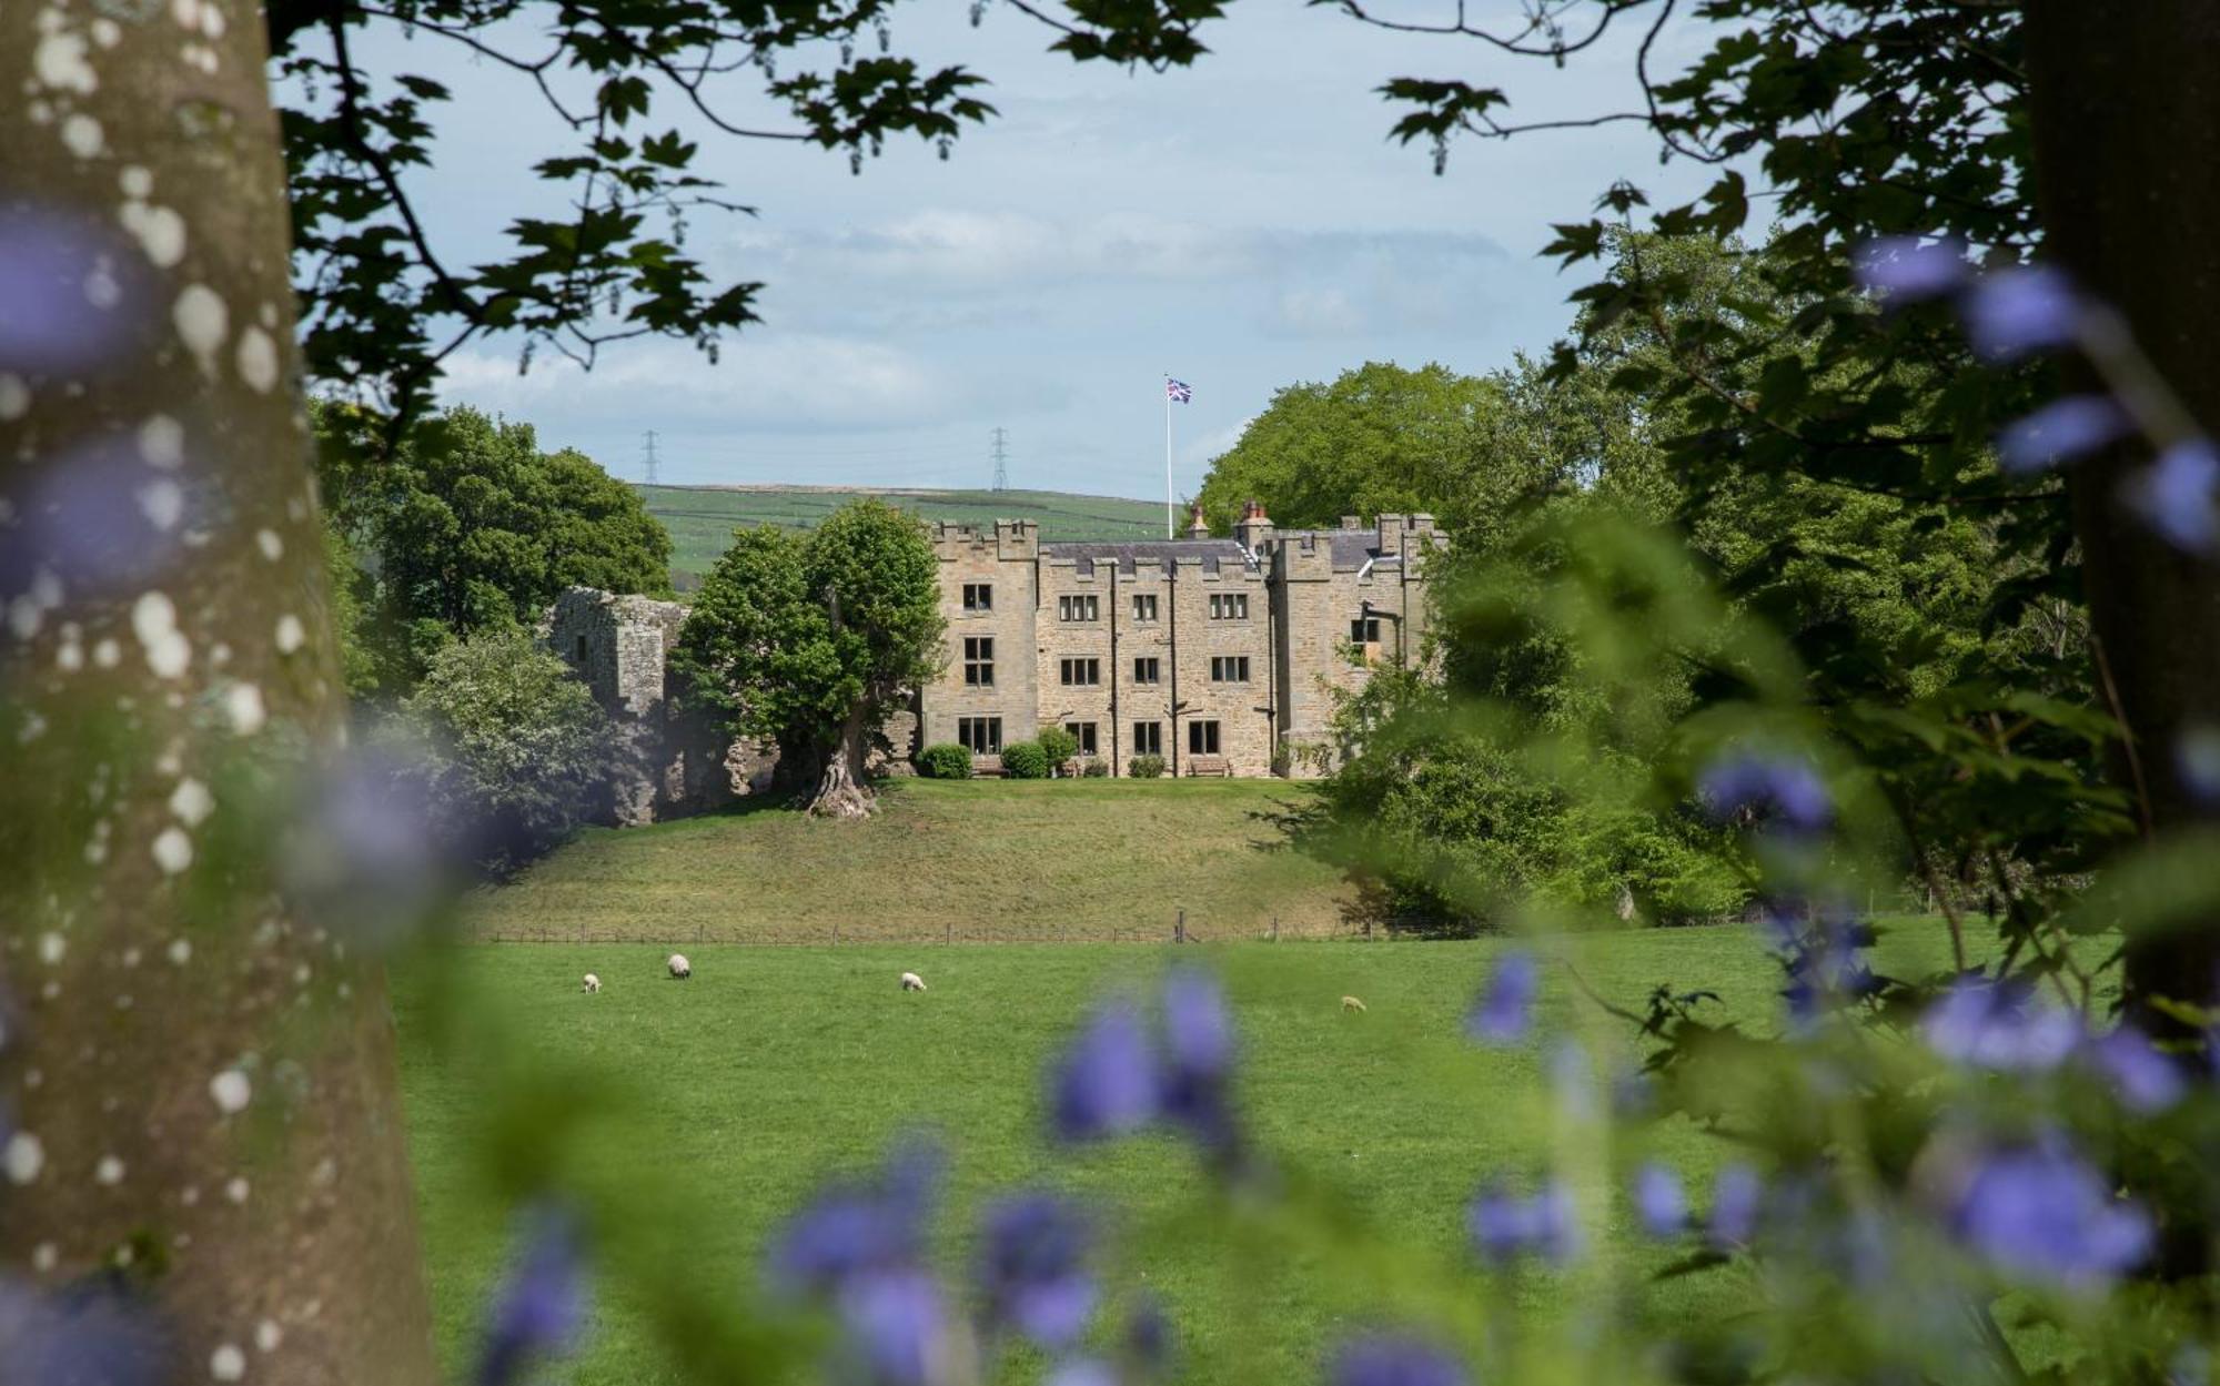
[[[919,744],[995,751],[1070,726],[1123,775],[1323,769],[1334,691],[1425,637],[1432,515],[1279,531],[1250,504],[1234,535],[1043,544],[1030,520],[935,526],[948,664],[919,691]]]

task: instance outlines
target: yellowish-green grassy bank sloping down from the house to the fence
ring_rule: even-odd
[[[866,824],[784,806],[588,831],[473,897],[477,937],[815,942],[1345,933],[1332,868],[1259,815],[1285,780],[897,780]]]

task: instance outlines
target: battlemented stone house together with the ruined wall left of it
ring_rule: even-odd
[[[935,524],[948,662],[886,729],[897,764],[961,742],[992,773],[1010,742],[1063,726],[1112,775],[1161,755],[1172,775],[1319,769],[1334,691],[1416,657],[1432,515],[1354,515],[1281,531],[1257,502],[1232,538],[1197,511],[1183,540],[1043,544],[1032,520]],[[677,711],[666,653],[686,609],[575,586],[546,642],[617,715],[642,775],[619,822],[715,806],[768,782],[770,757]]]

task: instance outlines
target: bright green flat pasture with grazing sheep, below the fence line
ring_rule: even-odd
[[[1063,789],[1043,786],[1043,797]],[[735,826],[746,822],[630,837]],[[1019,866],[997,860],[979,875],[1017,893],[1026,888]],[[650,877],[637,868],[637,880]],[[839,880],[859,882],[859,873],[839,868]],[[950,880],[952,866],[932,877]],[[753,888],[741,868],[730,882],[733,891]],[[921,893],[915,880],[888,882],[897,886]],[[460,1373],[502,1257],[497,1191],[535,1168],[559,1168],[579,1186],[657,1208],[637,1228],[626,1219],[635,1235],[622,1255],[739,1313],[779,1217],[828,1171],[875,1162],[915,1126],[939,1131],[950,1148],[939,1219],[950,1268],[968,1264],[968,1228],[995,1191],[1046,1184],[1117,1204],[1126,1228],[1112,1255],[1117,1282],[1161,1295],[1190,1382],[1314,1379],[1336,1335],[1381,1317],[1441,1315],[1472,1337],[1481,1282],[1463,1255],[1463,1202],[1485,1175],[1534,1173],[1554,1124],[1541,1099],[1545,1044],[1481,1051],[1456,1037],[1459,1015],[1501,946],[710,944],[688,948],[695,980],[686,984],[662,980],[664,951],[646,944],[448,948],[395,980],[442,1346]],[[1749,928],[1587,935],[1552,948],[1627,1006],[1656,982],[1703,982],[1727,1008],[1754,1017],[1774,1006],[1776,971]],[[1339,1211],[1336,1231],[1225,1215],[1194,1159],[1168,1137],[1079,1153],[1043,1142],[1050,1053],[1094,997],[1146,984],[1174,955],[1208,962],[1228,980],[1245,1122],[1290,1188]],[[1920,968],[1940,962],[1940,922],[1898,924],[1880,957]],[[924,973],[930,991],[897,991],[904,968]],[[602,995],[579,993],[586,971],[606,982]],[[1543,1033],[1583,1033],[1598,1051],[1625,1046],[1563,968],[1547,975]],[[1343,1013],[1345,993],[1370,1011]],[[457,997],[462,1004],[444,1004]],[[504,1113],[519,1106],[537,1122],[508,1124]],[[551,1124],[573,1135],[559,1139]],[[1698,1179],[1718,1157],[1716,1144],[1687,1128],[1656,1131],[1649,1142],[1652,1155]],[[1558,1155],[1596,1168],[1601,1151],[1590,1139]],[[1632,1235],[1623,1195],[1607,1193],[1601,1173],[1592,1188],[1603,1208],[1598,1244],[1578,1275],[1518,1277],[1512,1293],[1521,1313],[1556,1315],[1612,1284],[1656,1315],[1714,1317],[1747,1306],[1738,1273],[1643,1284],[1669,1253]],[[1701,1188],[1696,1202],[1707,1202]],[[1365,1228],[1405,1253],[1363,1259],[1356,1233]],[[1035,1366],[1021,1362],[1006,1379],[1035,1379]],[[644,1306],[604,1295],[593,1344],[559,1379],[653,1386],[677,1377]]]

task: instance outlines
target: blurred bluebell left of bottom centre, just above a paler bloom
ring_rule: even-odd
[[[848,1279],[924,1257],[937,1153],[917,1142],[870,1179],[839,1179],[786,1219],[770,1244],[770,1279],[788,1293],[835,1293]]]

